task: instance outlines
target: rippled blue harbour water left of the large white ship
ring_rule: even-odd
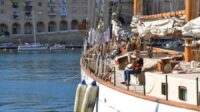
[[[81,50],[0,54],[0,112],[73,112]]]

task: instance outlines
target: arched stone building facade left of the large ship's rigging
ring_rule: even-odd
[[[0,0],[0,36],[76,31],[87,15],[88,0]]]

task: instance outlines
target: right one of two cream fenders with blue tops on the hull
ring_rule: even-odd
[[[93,81],[86,89],[81,112],[93,112],[97,95],[98,87],[96,82]]]

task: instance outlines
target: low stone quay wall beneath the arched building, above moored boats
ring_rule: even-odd
[[[86,31],[75,31],[75,32],[63,32],[63,33],[48,33],[48,34],[38,34],[37,42],[40,43],[80,43],[87,37]],[[26,43],[33,42],[33,35],[23,35],[23,36],[6,36],[1,37],[0,42],[14,42],[14,43]]]

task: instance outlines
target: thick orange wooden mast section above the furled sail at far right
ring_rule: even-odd
[[[199,0],[185,0],[185,22],[199,16]]]

